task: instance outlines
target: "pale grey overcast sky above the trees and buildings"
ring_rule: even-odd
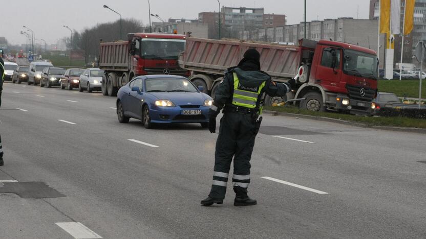
[[[103,5],[119,12],[123,18],[135,18],[144,24],[148,20],[147,0],[2,0],[2,23],[0,36],[5,36],[9,43],[25,43],[20,34],[23,25],[32,29],[37,39],[45,39],[48,44],[69,36],[70,28],[81,31],[98,22],[119,19],[119,16],[104,9]],[[199,12],[219,10],[216,0],[150,0],[151,13],[163,19],[198,18]],[[220,0],[222,6],[264,8],[265,13],[287,15],[287,24],[303,21],[303,0]],[[357,17],[368,18],[369,0],[307,0],[307,21],[325,18]],[[151,19],[155,21],[154,19]]]

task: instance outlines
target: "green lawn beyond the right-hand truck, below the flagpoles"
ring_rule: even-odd
[[[407,94],[409,98],[419,97],[419,80],[379,80],[377,85],[378,91],[391,92],[404,97]],[[426,81],[422,81],[421,98],[426,98]]]

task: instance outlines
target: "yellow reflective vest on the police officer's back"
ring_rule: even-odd
[[[260,86],[248,87],[240,84],[237,73],[233,73],[233,95],[232,104],[236,106],[242,106],[246,108],[256,108],[259,95],[263,87],[265,87],[266,81]],[[262,106],[259,107],[259,114],[262,114]]]

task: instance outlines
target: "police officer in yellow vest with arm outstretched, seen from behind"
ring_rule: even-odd
[[[225,198],[230,164],[233,157],[233,190],[235,206],[255,205],[257,201],[247,195],[250,183],[250,158],[254,139],[262,117],[264,94],[283,97],[295,87],[292,79],[278,84],[260,70],[260,54],[255,49],[244,53],[238,66],[227,70],[218,86],[215,101],[210,107],[209,130],[216,132],[216,116],[223,108],[219,136],[216,141],[215,168],[210,194],[202,205],[222,204]]]

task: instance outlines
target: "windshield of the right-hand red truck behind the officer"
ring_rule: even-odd
[[[377,80],[377,56],[346,49],[343,71],[348,75]]]

